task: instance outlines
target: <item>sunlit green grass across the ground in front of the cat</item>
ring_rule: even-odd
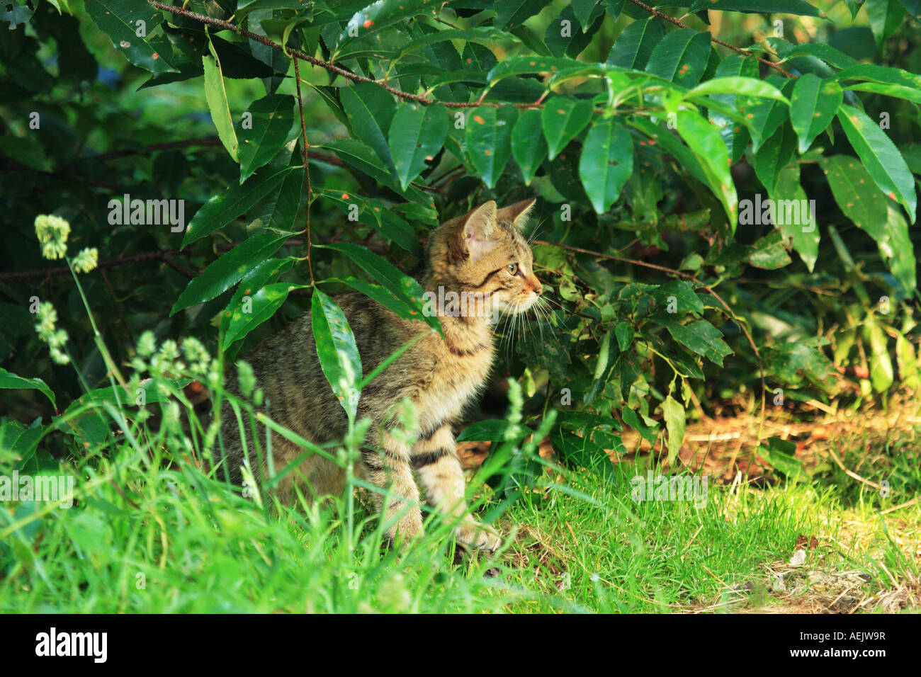
[[[921,508],[880,518],[846,477],[710,484],[694,508],[635,502],[627,464],[544,473],[511,505],[484,489],[481,515],[514,542],[461,559],[434,518],[424,539],[389,551],[360,502],[350,532],[342,498],[261,508],[163,449],[124,443],[63,466],[77,475],[73,508],[0,508],[0,613],[674,612],[733,590],[733,608],[754,609],[780,603],[764,596],[766,570],[800,534],[820,539],[808,565],[866,570],[868,594],[917,577]],[[917,451],[892,449],[880,458],[917,466]]]

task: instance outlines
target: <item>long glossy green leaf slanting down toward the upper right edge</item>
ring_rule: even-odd
[[[898,148],[864,111],[842,108],[838,111],[838,122],[873,181],[888,197],[902,204],[909,220],[915,223],[915,180]]]

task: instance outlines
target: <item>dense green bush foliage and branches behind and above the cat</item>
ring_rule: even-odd
[[[565,460],[624,450],[622,422],[673,457],[695,403],[827,400],[846,368],[864,396],[917,388],[921,5],[657,7],[6,6],[0,386],[47,396],[10,400],[6,461],[124,434],[28,421],[86,390],[123,404],[110,379],[146,331],[226,361],[311,289],[333,315],[347,289],[420,312],[420,240],[488,199],[539,198],[555,305],[500,328],[496,370],[522,379],[526,424],[559,410]],[[40,215],[69,224],[51,258],[98,250],[82,288],[42,258]],[[43,303],[69,335],[33,331]]]

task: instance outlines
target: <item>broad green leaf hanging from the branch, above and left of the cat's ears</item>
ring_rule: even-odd
[[[391,157],[400,186],[409,184],[426,169],[445,144],[448,113],[444,106],[419,106],[403,103],[393,116],[390,131]]]

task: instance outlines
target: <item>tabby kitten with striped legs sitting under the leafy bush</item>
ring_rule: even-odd
[[[444,338],[431,333],[423,321],[402,320],[366,296],[347,294],[335,299],[355,333],[366,374],[415,335],[428,333],[367,385],[357,405],[358,419],[367,416],[372,425],[356,474],[389,488],[391,499],[382,516],[387,523],[410,504],[388,531],[391,542],[405,541],[423,531],[415,471],[429,504],[460,524],[456,530],[459,543],[481,550],[494,550],[500,544],[495,531],[467,516],[464,474],[451,425],[486,383],[495,350],[490,315],[529,309],[541,295],[541,282],[532,269],[533,255],[521,234],[533,204],[526,200],[497,209],[489,201],[431,234],[422,286],[433,296],[441,287],[442,295],[453,291],[475,301],[466,309],[461,304],[461,312],[456,307],[437,309]],[[321,444],[343,438],[347,419],[323,375],[310,327],[307,313],[264,340],[245,359],[265,393],[271,418]],[[231,369],[227,388],[239,392],[236,384]],[[418,415],[419,432],[411,447],[390,433],[397,425],[395,405],[403,398],[413,401]],[[264,440],[264,428],[260,426],[259,431]],[[237,419],[227,406],[222,411],[221,434],[231,479],[239,484],[243,448]],[[255,469],[251,439],[247,449],[254,473],[264,473],[264,467]],[[272,449],[274,467],[279,470],[303,454],[303,449],[277,434]],[[292,496],[295,482],[306,490],[306,496],[339,494],[344,488],[344,471],[332,461],[309,456],[296,473],[286,475],[276,491]],[[374,496],[380,510],[382,496]]]

